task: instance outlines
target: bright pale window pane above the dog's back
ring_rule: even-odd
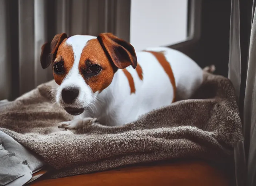
[[[187,38],[187,0],[131,0],[130,43],[136,50]]]

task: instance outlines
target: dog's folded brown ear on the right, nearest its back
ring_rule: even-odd
[[[136,68],[137,56],[131,44],[119,39],[112,33],[101,33],[97,39],[117,68],[124,69],[129,65]]]

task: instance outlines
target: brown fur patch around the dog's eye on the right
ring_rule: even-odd
[[[91,61],[91,64],[101,66],[100,73],[95,76],[85,77],[83,73],[89,68],[85,62],[86,60]],[[79,61],[79,72],[84,77],[85,82],[91,87],[93,93],[101,92],[111,84],[114,70],[97,39],[89,40],[83,48]]]

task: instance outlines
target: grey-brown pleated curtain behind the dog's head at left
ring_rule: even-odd
[[[41,46],[57,33],[112,32],[129,41],[130,0],[0,0],[0,100],[51,80]]]

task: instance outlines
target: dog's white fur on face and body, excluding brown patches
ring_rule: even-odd
[[[173,87],[169,77],[153,54],[148,52],[136,52],[137,61],[143,70],[143,81],[140,80],[135,69],[131,66],[127,67],[135,82],[135,93],[130,93],[128,79],[120,69],[117,70],[113,81],[106,89],[100,94],[93,93],[78,70],[82,49],[87,41],[93,38],[96,37],[76,35],[67,39],[67,43],[73,48],[75,62],[57,90],[56,100],[63,107],[68,106],[62,101],[61,90],[67,86],[79,87],[79,97],[71,106],[89,107],[89,109],[74,119],[91,117],[98,118],[101,124],[123,125],[135,121],[139,116],[153,109],[171,104]],[[165,47],[147,50],[165,51],[165,57],[171,64],[175,77],[177,96],[180,99],[189,98],[201,85],[203,70],[185,54]]]

